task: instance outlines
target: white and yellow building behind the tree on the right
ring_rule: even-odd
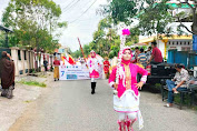
[[[185,0],[183,0],[185,1]],[[158,1],[159,2],[159,1]],[[181,7],[178,6],[180,3],[179,0],[169,0],[167,4],[171,6],[175,10],[171,12],[173,16],[176,16],[179,12],[186,12],[190,13],[190,7],[187,4],[181,4]],[[189,3],[194,6],[194,1],[190,0]],[[188,29],[190,29],[191,22],[183,22]],[[193,34],[189,33],[187,30],[184,29],[183,36],[177,36],[177,27],[179,26],[179,22],[170,23],[169,27],[173,27],[173,31],[175,32],[173,37],[161,37],[161,39],[158,39],[157,36],[151,37],[140,37],[139,43],[140,44],[147,44],[150,46],[152,41],[157,41],[157,47],[160,49],[162,57],[167,58],[168,50],[177,50],[177,51],[189,51],[193,50]],[[137,43],[137,44],[139,44]],[[136,44],[136,46],[137,46]]]

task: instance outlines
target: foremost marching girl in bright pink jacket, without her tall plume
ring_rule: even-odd
[[[119,131],[132,130],[132,124],[137,120],[139,121],[139,129],[142,129],[142,117],[139,110],[139,92],[144,83],[147,80],[148,72],[136,64],[130,63],[132,58],[129,48],[122,49],[119,54],[122,54],[121,63],[112,69],[109,78],[109,84],[117,90],[117,94],[114,95],[114,109],[119,112]],[[119,56],[120,57],[120,56]],[[118,71],[118,73],[117,73]],[[137,83],[137,73],[142,74],[141,80]],[[118,74],[118,84],[115,83],[116,75]]]

